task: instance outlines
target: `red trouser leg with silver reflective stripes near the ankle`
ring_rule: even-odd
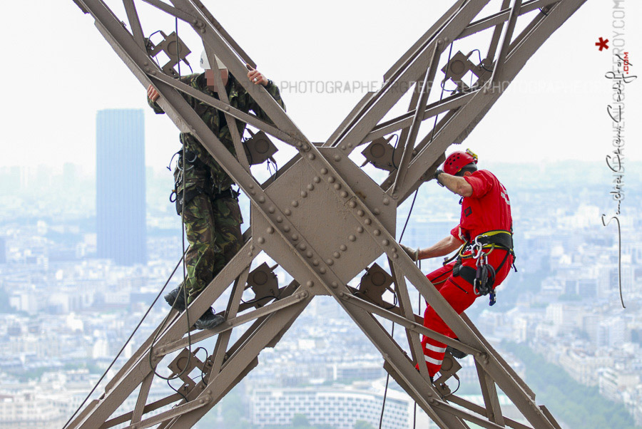
[[[439,291],[439,294],[442,294],[444,299],[452,306],[454,311],[456,311],[457,314],[461,314],[462,311],[472,305],[477,295],[473,292],[472,284],[462,279],[461,276],[452,276],[452,267],[453,264],[444,265],[444,267],[428,274],[427,277]],[[442,318],[437,315],[437,312],[432,309],[432,306],[427,306],[424,312],[424,326],[439,332],[439,334],[456,338],[454,332],[442,321]],[[442,368],[446,344],[424,336],[422,348],[424,350],[424,358],[428,372],[432,377]]]

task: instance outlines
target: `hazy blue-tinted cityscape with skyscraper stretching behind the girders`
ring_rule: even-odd
[[[95,166],[0,168],[0,428],[62,427],[180,261],[180,217],[168,198],[173,177],[164,166],[144,164],[141,112],[98,112]],[[117,139],[121,147],[103,150],[101,130],[115,123],[128,134]],[[604,163],[491,162],[482,145],[475,150],[479,166],[509,192],[517,272],[499,288],[495,306],[481,298],[467,315],[563,428],[642,427],[642,294],[636,286],[642,279],[642,165],[627,164],[620,243],[616,227],[601,221],[614,207]],[[268,177],[265,165],[253,169]],[[420,189],[409,213],[411,200],[397,215],[397,238],[409,216],[402,238],[408,246],[427,247],[459,221],[458,197],[434,182]],[[248,200],[240,202],[250,219]],[[424,260],[422,271],[441,262]],[[385,260],[377,263],[389,269]],[[291,280],[280,267],[275,274],[281,285]],[[215,308],[223,309],[226,298]],[[244,299],[252,298],[246,291]],[[421,314],[425,303],[416,291],[411,298]],[[110,374],[168,309],[163,299],[153,306]],[[403,330],[394,336],[402,338]],[[196,356],[204,359],[214,341],[199,343],[203,351]],[[459,363],[459,381],[451,378],[449,387],[483,404],[474,361]],[[180,381],[158,383],[158,398],[180,387]],[[384,394],[382,428],[432,427],[394,381],[385,386],[382,356],[335,301],[320,297],[195,427],[377,428]],[[504,399],[500,395],[504,414],[525,423]],[[135,401],[130,398],[130,409]]]

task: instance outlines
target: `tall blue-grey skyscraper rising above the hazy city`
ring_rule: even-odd
[[[96,116],[98,257],[145,264],[145,132],[143,110],[99,110]]]

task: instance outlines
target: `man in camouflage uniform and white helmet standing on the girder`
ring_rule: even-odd
[[[223,63],[220,63],[218,58],[216,59],[230,105],[245,113],[252,110],[258,118],[272,123],[235,76],[228,73]],[[205,73],[183,76],[180,81],[198,89],[198,91],[218,98],[213,76],[215,72],[209,68],[208,61],[205,60],[203,64],[202,59],[201,65],[205,68]],[[247,78],[256,85],[263,85],[277,103],[285,109],[279,89],[272,81],[256,70],[250,70]],[[154,112],[164,113],[156,103],[160,96],[156,88],[149,86],[147,94],[148,103]],[[225,115],[220,110],[196,100],[190,95],[185,93],[182,95],[221,143],[230,150],[230,153],[236,155]],[[245,131],[245,125],[247,124],[236,120],[236,126],[241,136]],[[183,150],[180,150],[178,163],[174,170],[175,189],[173,192],[176,197],[176,210],[179,215],[183,216],[185,234],[190,244],[185,254],[187,270],[185,284],[188,294],[187,304],[190,304],[240,249],[243,243],[240,224],[243,223],[243,219],[238,207],[238,194],[231,188],[234,184],[232,178],[193,135],[181,133],[180,143],[185,149],[185,157],[183,157]],[[185,309],[182,286],[183,284],[180,284],[165,295],[168,304],[179,311]],[[223,317],[215,315],[213,309],[210,308],[203,316],[200,316],[195,326],[198,329],[213,329],[223,321]]]

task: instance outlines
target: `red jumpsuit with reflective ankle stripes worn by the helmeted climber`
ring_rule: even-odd
[[[474,241],[477,235],[496,229],[511,230],[511,202],[506,194],[506,188],[488,170],[473,172],[469,177],[464,177],[472,186],[472,195],[462,200],[462,217],[459,225],[450,232],[453,237],[462,244],[466,241]],[[501,284],[508,275],[513,257],[505,249],[494,249],[488,255],[488,263],[496,270],[494,286]],[[466,252],[465,254],[470,254]],[[464,255],[465,255],[464,254]],[[502,260],[506,257],[501,269],[498,269]],[[473,258],[463,259],[462,267],[475,268],[476,260]],[[462,276],[453,276],[452,268],[454,262],[444,265],[427,275],[444,299],[452,306],[457,314],[467,309],[477,299],[473,291],[473,285],[464,280]],[[442,321],[437,312],[431,306],[427,306],[424,313],[424,326],[433,331],[444,334],[450,338],[457,338],[454,332]],[[434,376],[442,367],[446,345],[432,338],[424,336],[422,340],[424,358],[428,366],[430,376]]]

